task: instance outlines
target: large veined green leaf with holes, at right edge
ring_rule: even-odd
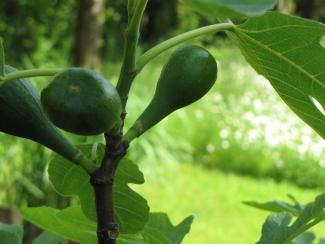
[[[325,27],[298,17],[267,13],[248,19],[235,34],[247,61],[301,119],[325,138],[325,49],[320,44]]]

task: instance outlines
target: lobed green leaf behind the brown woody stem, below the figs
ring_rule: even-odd
[[[98,162],[103,157],[104,146],[98,146]],[[83,145],[81,150],[91,156],[92,146]],[[89,219],[96,220],[94,192],[89,175],[81,167],[55,155],[48,168],[49,178],[58,193],[64,196],[78,196],[82,211]],[[129,160],[121,161],[116,172],[114,199],[116,219],[122,234],[139,232],[148,220],[147,201],[133,191],[128,184],[143,184],[144,178],[138,167]]]

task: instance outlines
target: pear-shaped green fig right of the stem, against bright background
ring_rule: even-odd
[[[205,49],[185,45],[178,48],[165,64],[155,95],[126,134],[139,136],[173,111],[203,97],[217,79],[217,63]]]

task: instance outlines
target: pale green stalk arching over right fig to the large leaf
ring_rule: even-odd
[[[172,48],[178,44],[181,44],[185,41],[188,41],[190,39],[206,35],[206,34],[211,34],[214,32],[219,32],[219,31],[231,31],[234,28],[234,24],[232,23],[219,23],[219,24],[214,24],[214,25],[208,25],[204,26],[195,30],[191,30],[185,33],[182,33],[178,36],[175,36],[173,38],[170,38],[155,47],[149,49],[147,52],[142,54],[140,58],[138,59],[136,66],[138,70],[142,70],[143,67],[150,62],[152,59],[157,57],[159,54],[163,53],[164,51],[168,50],[169,48]]]

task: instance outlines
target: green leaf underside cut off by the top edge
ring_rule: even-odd
[[[274,8],[277,0],[184,0],[195,10],[216,18],[234,18],[261,15]]]

